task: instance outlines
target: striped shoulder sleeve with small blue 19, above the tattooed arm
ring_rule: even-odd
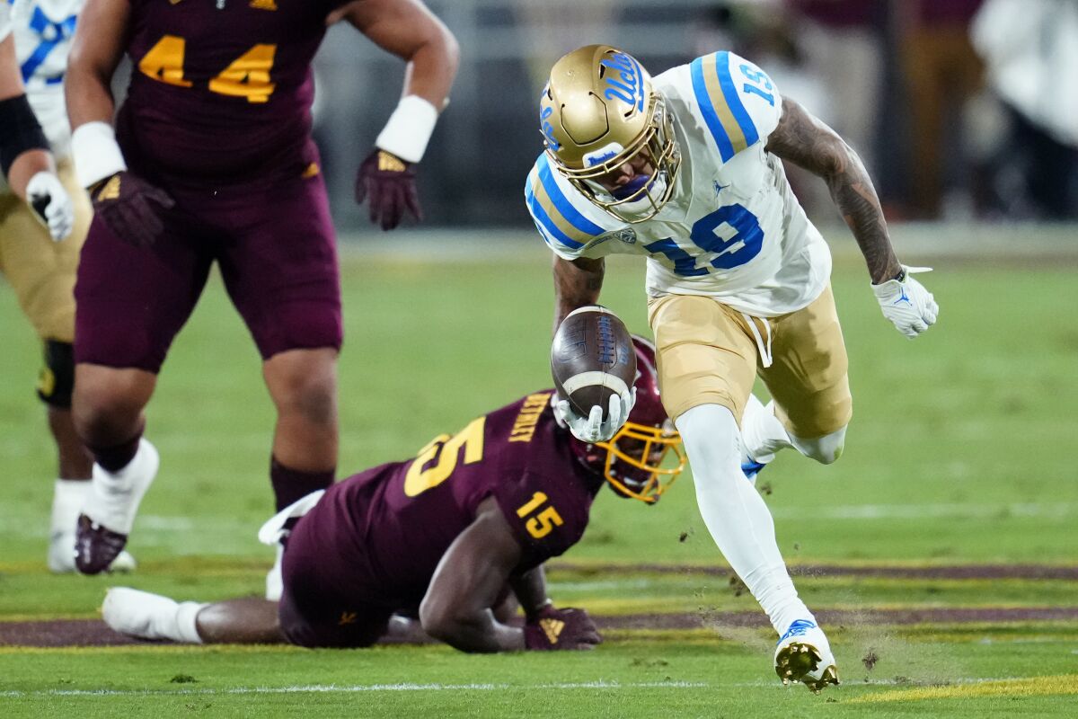
[[[692,97],[722,156],[765,141],[778,126],[783,98],[763,70],[730,52],[697,57],[689,66]]]

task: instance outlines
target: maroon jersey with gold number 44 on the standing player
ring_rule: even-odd
[[[130,0],[116,134],[132,168],[195,185],[302,172],[310,60],[345,1]]]

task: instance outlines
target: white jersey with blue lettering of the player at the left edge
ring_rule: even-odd
[[[0,0],[11,3],[15,54],[26,96],[57,158],[70,152],[64,73],[84,0]]]

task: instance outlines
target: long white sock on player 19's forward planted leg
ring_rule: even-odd
[[[718,404],[703,404],[676,424],[692,466],[704,524],[772,626],[782,634],[796,619],[815,621],[786,570],[771,512],[741,471],[733,414]]]

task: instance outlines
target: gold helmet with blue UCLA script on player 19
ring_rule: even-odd
[[[649,220],[674,194],[681,155],[673,122],[632,55],[585,45],[562,57],[539,100],[539,125],[557,170],[614,219]],[[619,174],[627,181],[618,184]]]

